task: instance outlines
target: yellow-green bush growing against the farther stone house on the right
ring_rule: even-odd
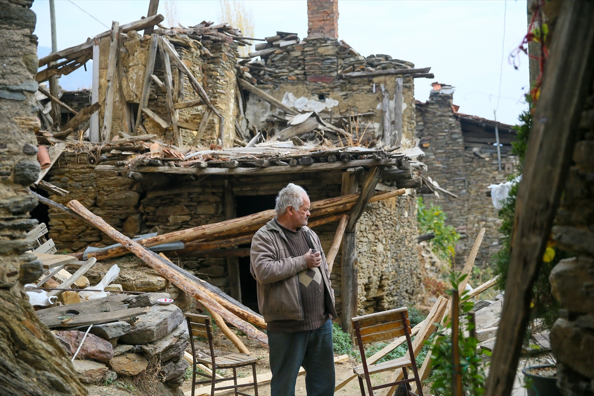
[[[446,226],[444,211],[441,206],[434,205],[431,202],[429,208],[423,203],[423,198],[418,199],[417,218],[419,224],[419,233],[434,233],[435,237],[431,239],[429,245],[432,250],[440,256],[444,261],[449,261],[450,257],[454,256],[454,248],[457,240],[460,239],[460,234],[456,232],[453,226]]]

